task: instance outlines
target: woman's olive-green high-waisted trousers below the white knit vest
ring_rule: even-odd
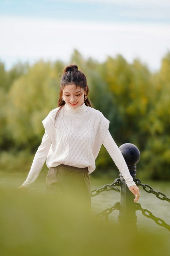
[[[79,168],[65,164],[51,167],[46,178],[46,193],[75,199],[78,205],[90,212],[91,183],[88,167]]]

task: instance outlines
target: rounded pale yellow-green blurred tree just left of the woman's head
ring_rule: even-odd
[[[57,81],[50,63],[40,60],[14,81],[8,93],[7,128],[16,145],[34,148],[44,132],[42,120],[57,105]]]

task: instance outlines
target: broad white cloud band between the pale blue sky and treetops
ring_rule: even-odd
[[[99,61],[122,54],[129,62],[139,57],[152,70],[170,46],[170,25],[77,22],[0,17],[0,57],[6,66],[39,58],[69,61],[73,49]]]

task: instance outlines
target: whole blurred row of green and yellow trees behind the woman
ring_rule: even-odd
[[[117,55],[99,63],[84,59],[76,49],[70,63],[85,73],[89,98],[110,121],[109,131],[117,145],[133,143],[139,148],[138,170],[146,172],[148,178],[170,179],[170,52],[155,73],[139,59],[129,64]],[[0,63],[1,150],[35,152],[44,134],[42,120],[57,107],[60,78],[66,65],[59,60],[39,60],[32,66],[17,63],[5,71]],[[115,168],[103,147],[96,167]]]

